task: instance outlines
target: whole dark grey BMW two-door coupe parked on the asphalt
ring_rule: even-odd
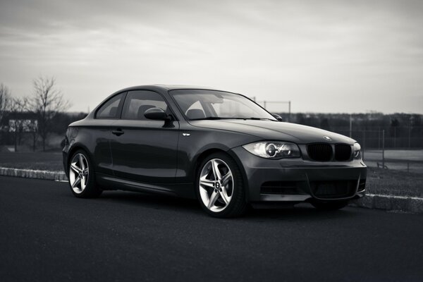
[[[364,196],[355,140],[279,120],[231,92],[130,87],[69,125],[63,166],[76,197],[156,192],[197,198],[217,217],[239,216],[247,204],[341,209]]]

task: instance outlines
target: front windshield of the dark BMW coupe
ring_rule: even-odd
[[[214,90],[172,90],[170,93],[190,121],[225,118],[276,121],[261,106],[239,94]]]

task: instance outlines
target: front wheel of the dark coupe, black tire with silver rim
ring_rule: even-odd
[[[229,218],[245,213],[243,177],[238,165],[227,154],[214,153],[204,159],[195,181],[197,198],[210,216]]]

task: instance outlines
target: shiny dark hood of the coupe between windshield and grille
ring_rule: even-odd
[[[296,123],[284,123],[278,121],[255,121],[224,119],[214,121],[189,121],[193,126],[200,128],[212,128],[216,130],[229,130],[249,135],[255,135],[263,140],[281,140],[295,142],[297,144],[307,144],[314,142],[326,143],[347,143],[354,144],[355,140],[350,137],[331,131],[313,128],[311,126]],[[330,137],[326,140],[324,136]]]

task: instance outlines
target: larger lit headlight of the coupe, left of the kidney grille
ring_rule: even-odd
[[[299,158],[298,146],[291,142],[255,142],[243,146],[251,154],[266,159]]]

